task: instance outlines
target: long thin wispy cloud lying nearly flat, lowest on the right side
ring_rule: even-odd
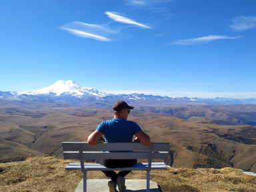
[[[208,35],[205,37],[199,37],[195,39],[183,39],[178,41],[173,41],[171,45],[195,45],[199,43],[209,43],[211,41],[216,41],[219,39],[239,39],[241,37],[227,37],[225,35]]]

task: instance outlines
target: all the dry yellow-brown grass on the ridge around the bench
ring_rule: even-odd
[[[70,161],[55,157],[30,157],[26,161],[0,163],[0,191],[75,191],[83,174],[65,171]],[[88,171],[88,179],[106,179],[101,171]],[[133,171],[127,179],[145,179],[145,171]],[[253,192],[256,177],[239,169],[172,169],[151,171],[151,181],[163,192]]]

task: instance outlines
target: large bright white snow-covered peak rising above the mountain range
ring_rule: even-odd
[[[63,94],[65,95],[71,95],[71,96],[77,96],[77,97],[82,97],[85,95],[93,95],[97,97],[103,97],[107,96],[106,93],[104,92],[99,92],[95,90],[94,88],[86,88],[83,87],[73,80],[58,80],[54,84],[47,86],[45,88],[42,88],[40,90],[37,90],[35,92],[29,92],[27,94],[56,94],[56,96],[61,96]]]

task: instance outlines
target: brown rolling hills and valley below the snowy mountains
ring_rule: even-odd
[[[252,116],[250,112],[253,114],[255,106],[134,106],[129,120],[137,122],[152,142],[170,143],[168,165],[235,167],[256,172],[256,127],[234,122],[237,112],[230,113],[239,108]],[[109,107],[45,101],[1,102],[0,161],[45,154],[63,158],[62,142],[86,142],[98,124],[110,118],[113,110]]]

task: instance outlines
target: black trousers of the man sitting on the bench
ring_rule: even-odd
[[[137,159],[99,159],[98,163],[104,165],[108,168],[123,168],[123,167],[131,167],[135,163],[137,163]],[[110,177],[112,181],[117,181],[117,177],[125,177],[131,171],[119,171],[119,173],[115,173],[115,171],[102,171],[107,177]]]

